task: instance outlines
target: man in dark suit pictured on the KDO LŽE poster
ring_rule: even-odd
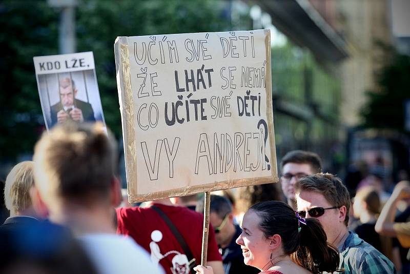
[[[78,123],[84,121],[95,121],[94,111],[91,104],[75,99],[77,89],[74,81],[65,77],[58,85],[60,102],[51,106],[51,127],[57,123],[72,120]]]

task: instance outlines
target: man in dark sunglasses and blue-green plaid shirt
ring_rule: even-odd
[[[342,181],[329,173],[301,178],[295,185],[297,213],[316,218],[326,232],[327,242],[339,249],[339,268],[350,273],[396,273],[382,253],[347,228],[351,204]]]

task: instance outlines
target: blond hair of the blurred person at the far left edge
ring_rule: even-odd
[[[32,161],[24,161],[15,165],[7,175],[4,202],[12,214],[22,212],[32,205],[30,189],[34,185],[33,169]]]

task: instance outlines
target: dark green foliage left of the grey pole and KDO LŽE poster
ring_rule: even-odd
[[[58,15],[45,2],[0,4],[0,157],[31,152],[44,124],[33,56],[57,54]]]

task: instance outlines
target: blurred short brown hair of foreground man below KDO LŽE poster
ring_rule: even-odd
[[[101,123],[58,125],[35,145],[35,185],[43,198],[104,200],[116,172],[115,151],[116,143]]]

